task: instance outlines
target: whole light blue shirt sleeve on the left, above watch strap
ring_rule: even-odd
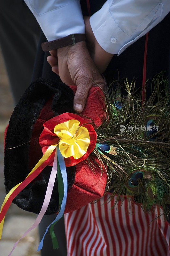
[[[85,34],[80,0],[24,0],[48,41]]]

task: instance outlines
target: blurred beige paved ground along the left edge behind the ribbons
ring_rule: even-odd
[[[13,100],[10,85],[0,49],[0,206],[6,196],[4,189],[4,130],[13,111]],[[32,226],[35,214],[21,210],[12,204],[6,214],[2,238],[0,241],[0,256],[7,256],[14,243]],[[24,237],[12,253],[12,256],[36,256],[39,243],[38,230],[34,229]]]

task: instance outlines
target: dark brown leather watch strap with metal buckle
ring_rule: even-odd
[[[58,48],[62,48],[65,46],[71,46],[80,41],[85,41],[85,40],[86,40],[85,34],[71,34],[69,36],[60,38],[58,40],[42,43],[41,47],[44,52],[48,52],[48,51],[56,50]]]

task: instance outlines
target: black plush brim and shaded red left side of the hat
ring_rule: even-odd
[[[63,83],[37,79],[32,83],[13,111],[5,138],[4,184],[6,193],[22,182],[43,156],[38,143],[43,123],[64,111],[73,112],[73,91]],[[51,106],[51,107],[50,107]],[[11,149],[10,149],[11,148]],[[75,179],[75,167],[67,167],[68,189]],[[39,213],[50,177],[47,166],[13,200],[20,208]],[[57,187],[57,180],[55,181]],[[58,211],[58,189],[52,192],[46,214]]]

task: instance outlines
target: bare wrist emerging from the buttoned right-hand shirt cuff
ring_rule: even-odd
[[[90,26],[90,17],[84,16],[83,18],[85,24],[86,43],[90,56],[100,71],[100,74],[102,74],[106,70],[114,54],[104,51],[100,44],[97,42]]]

